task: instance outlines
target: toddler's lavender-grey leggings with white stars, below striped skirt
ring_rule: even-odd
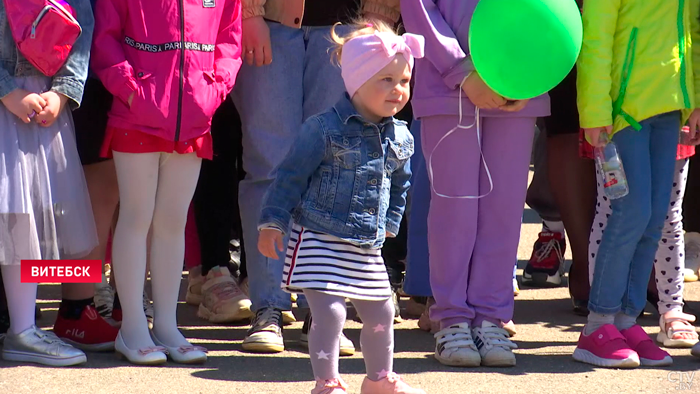
[[[347,310],[345,298],[316,290],[304,290],[313,322],[309,328],[309,356],[316,380],[340,377],[338,357],[340,335]],[[382,301],[351,300],[362,319],[360,344],[367,377],[381,380],[392,372],[394,363],[394,304]]]

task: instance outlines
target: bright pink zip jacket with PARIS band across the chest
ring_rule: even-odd
[[[171,141],[209,131],[241,67],[240,0],[98,0],[95,22],[109,126]]]

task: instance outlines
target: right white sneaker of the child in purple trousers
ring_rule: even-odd
[[[481,327],[473,330],[474,343],[481,355],[481,365],[485,367],[514,367],[515,354],[513,349],[518,345],[513,343],[508,331],[485,321]]]

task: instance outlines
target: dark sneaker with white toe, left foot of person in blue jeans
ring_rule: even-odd
[[[264,308],[255,314],[248,335],[243,340],[243,350],[253,353],[284,351],[281,310]]]

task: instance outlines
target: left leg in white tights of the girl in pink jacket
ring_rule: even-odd
[[[155,207],[160,156],[114,152],[120,202],[112,241],[112,269],[122,309],[120,332],[126,346],[133,350],[154,346],[143,311],[143,285],[146,237]]]

